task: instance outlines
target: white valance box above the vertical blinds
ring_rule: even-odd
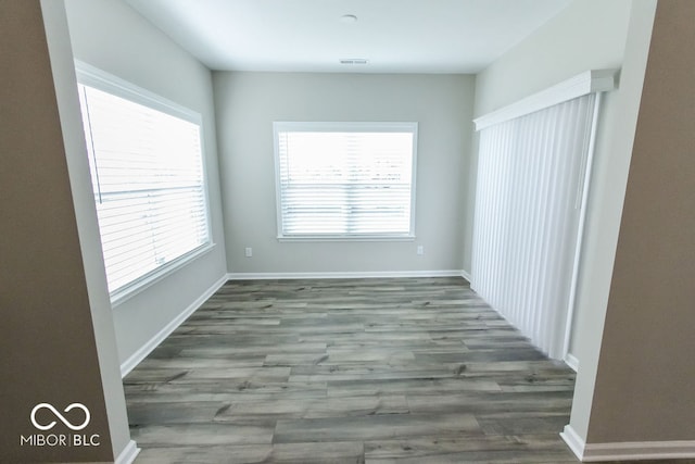
[[[616,88],[616,70],[585,71],[548,89],[473,120],[476,130],[482,130],[587,93],[612,90]]]

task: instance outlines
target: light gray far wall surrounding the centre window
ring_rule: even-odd
[[[216,72],[214,88],[230,272],[462,268],[471,76]],[[418,122],[416,240],[278,242],[274,121]]]

